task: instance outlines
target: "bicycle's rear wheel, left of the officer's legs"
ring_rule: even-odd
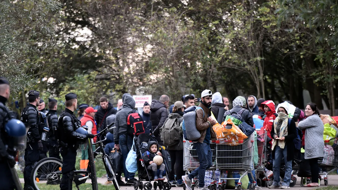
[[[35,164],[30,177],[34,190],[59,190],[61,168],[62,161],[57,158],[44,158]]]

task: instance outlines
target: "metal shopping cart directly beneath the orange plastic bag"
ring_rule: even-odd
[[[245,175],[251,175],[254,180],[249,185],[250,190],[254,190],[256,181],[251,170],[254,169],[253,152],[254,152],[255,136],[251,134],[245,140],[217,140],[216,141],[216,168],[221,171],[228,171],[235,173],[242,173],[240,178],[223,178],[219,179],[218,185],[221,190],[224,189],[224,180],[238,180],[237,189],[241,190],[241,179]],[[223,172],[221,172],[223,173]]]

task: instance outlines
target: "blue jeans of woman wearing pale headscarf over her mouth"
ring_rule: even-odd
[[[280,167],[281,167],[281,161],[284,157],[285,161],[285,176],[284,176],[284,182],[282,183],[282,186],[288,186],[290,185],[291,181],[291,172],[292,172],[292,160],[287,161],[287,146],[285,145],[284,148],[280,148],[279,146],[275,146],[275,156],[273,159],[273,184],[274,186],[279,186],[280,183]]]

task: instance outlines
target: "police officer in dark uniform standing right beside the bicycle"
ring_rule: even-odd
[[[77,107],[77,95],[75,93],[68,93],[65,98],[66,109],[60,113],[57,126],[57,137],[61,144],[60,152],[63,158],[61,190],[72,189],[76,150],[79,148],[77,141],[84,142],[88,138],[94,138],[93,134],[83,135],[75,132],[81,127],[80,121],[74,115]]]

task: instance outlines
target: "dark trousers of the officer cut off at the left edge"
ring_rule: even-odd
[[[15,189],[13,177],[11,175],[7,161],[0,162],[0,189]]]

